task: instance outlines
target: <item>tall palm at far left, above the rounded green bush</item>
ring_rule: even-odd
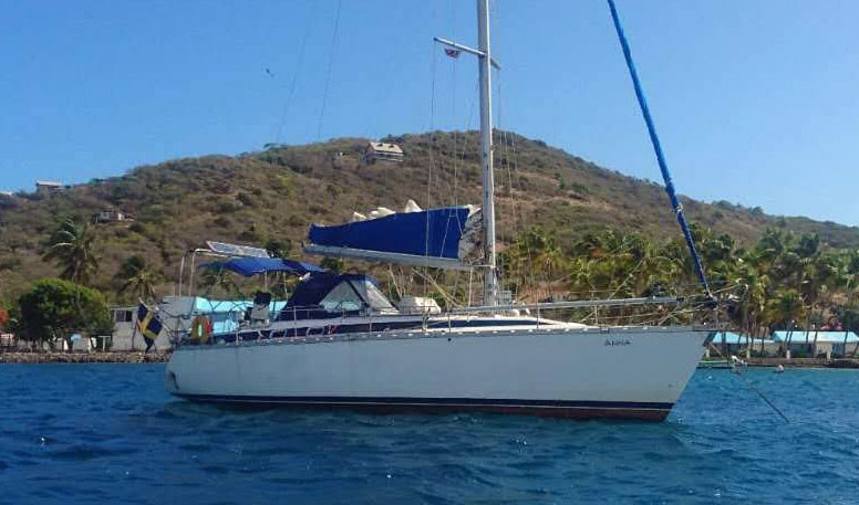
[[[43,259],[55,261],[62,269],[60,277],[86,284],[99,270],[93,252],[95,234],[90,223],[69,218],[60,224]]]

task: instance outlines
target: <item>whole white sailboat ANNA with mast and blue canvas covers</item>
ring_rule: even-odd
[[[501,297],[488,0],[477,0],[477,49],[436,41],[477,56],[482,207],[410,209],[340,225],[313,225],[306,251],[479,270],[482,304],[447,312],[432,304],[395,305],[368,275],[340,275],[307,263],[234,253],[214,266],[242,275],[293,274],[300,278],[298,287],[276,314],[266,314],[268,301],[261,299],[261,316],[228,332],[197,328],[178,338],[165,377],[170,393],[196,401],[379,412],[665,419],[716,328],[594,326],[541,314],[571,307],[666,305],[676,298],[515,305]],[[476,251],[483,251],[477,260]]]

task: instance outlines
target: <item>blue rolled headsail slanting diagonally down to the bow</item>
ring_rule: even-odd
[[[618,17],[618,9],[614,7],[614,0],[609,1],[609,9],[611,9],[611,19],[614,21],[614,30],[618,32],[618,39],[620,45],[623,48],[623,57],[627,60],[627,67],[630,71],[630,77],[632,77],[632,85],[635,86],[635,96],[639,98],[639,105],[641,106],[641,114],[644,116],[644,123],[648,124],[648,133],[650,134],[650,141],[653,144],[653,149],[656,151],[656,160],[659,161],[659,168],[662,171],[662,179],[665,181],[665,192],[669,193],[671,199],[671,207],[674,209],[674,213],[677,215],[677,223],[680,223],[681,230],[683,230],[683,236],[686,239],[686,245],[689,245],[689,252],[692,254],[692,261],[695,263],[695,273],[704,293],[707,296],[712,296],[710,292],[710,285],[707,284],[707,277],[704,275],[704,266],[701,263],[701,256],[698,256],[697,249],[695,249],[695,241],[692,239],[692,232],[686,224],[686,218],[683,215],[683,206],[677,200],[677,193],[674,191],[674,183],[671,181],[671,173],[669,173],[669,167],[665,164],[665,156],[662,154],[662,146],[656,136],[656,128],[653,126],[653,118],[650,117],[650,109],[648,108],[648,101],[644,98],[644,91],[641,88],[641,82],[639,82],[639,74],[635,72],[635,63],[632,62],[632,54],[630,53],[630,46],[627,42],[627,35],[623,34],[623,28],[620,25],[620,18]]]

